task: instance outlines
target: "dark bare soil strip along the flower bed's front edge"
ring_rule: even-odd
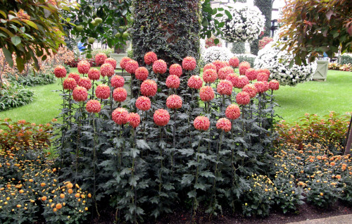
[[[317,209],[315,206],[311,206],[309,204],[303,204],[299,207],[296,213],[281,213],[279,211],[271,211],[270,216],[266,218],[244,218],[241,216],[241,213],[232,213],[230,210],[223,211],[222,216],[215,216],[211,220],[208,218],[208,214],[202,211],[196,214],[196,223],[199,224],[210,224],[210,223],[239,223],[239,224],[283,224],[283,223],[291,223],[291,222],[299,222],[303,220],[312,220],[316,218],[327,218],[329,216],[341,216],[346,214],[352,214],[352,207],[347,206],[346,204],[342,204],[341,202],[337,202],[330,209]],[[113,224],[114,223],[114,211],[109,211],[109,209],[105,209],[101,212],[100,218],[93,218],[89,221],[89,224]],[[123,218],[122,218],[123,219]],[[144,220],[144,223],[151,224],[190,224],[190,213],[189,211],[182,209],[175,209],[174,213],[167,214],[154,220],[151,218],[150,220]],[[123,222],[122,222],[123,223]]]

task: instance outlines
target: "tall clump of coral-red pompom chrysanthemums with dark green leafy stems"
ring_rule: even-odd
[[[98,214],[109,200],[116,220],[135,223],[180,205],[192,218],[199,206],[210,216],[239,209],[246,177],[268,165],[279,83],[235,57],[207,64],[203,77],[192,57],[167,65],[148,52],[144,63],[122,59],[131,87],[106,62],[100,75],[84,64],[78,82],[63,80],[62,178],[93,192]],[[84,74],[92,85],[80,84]]]

